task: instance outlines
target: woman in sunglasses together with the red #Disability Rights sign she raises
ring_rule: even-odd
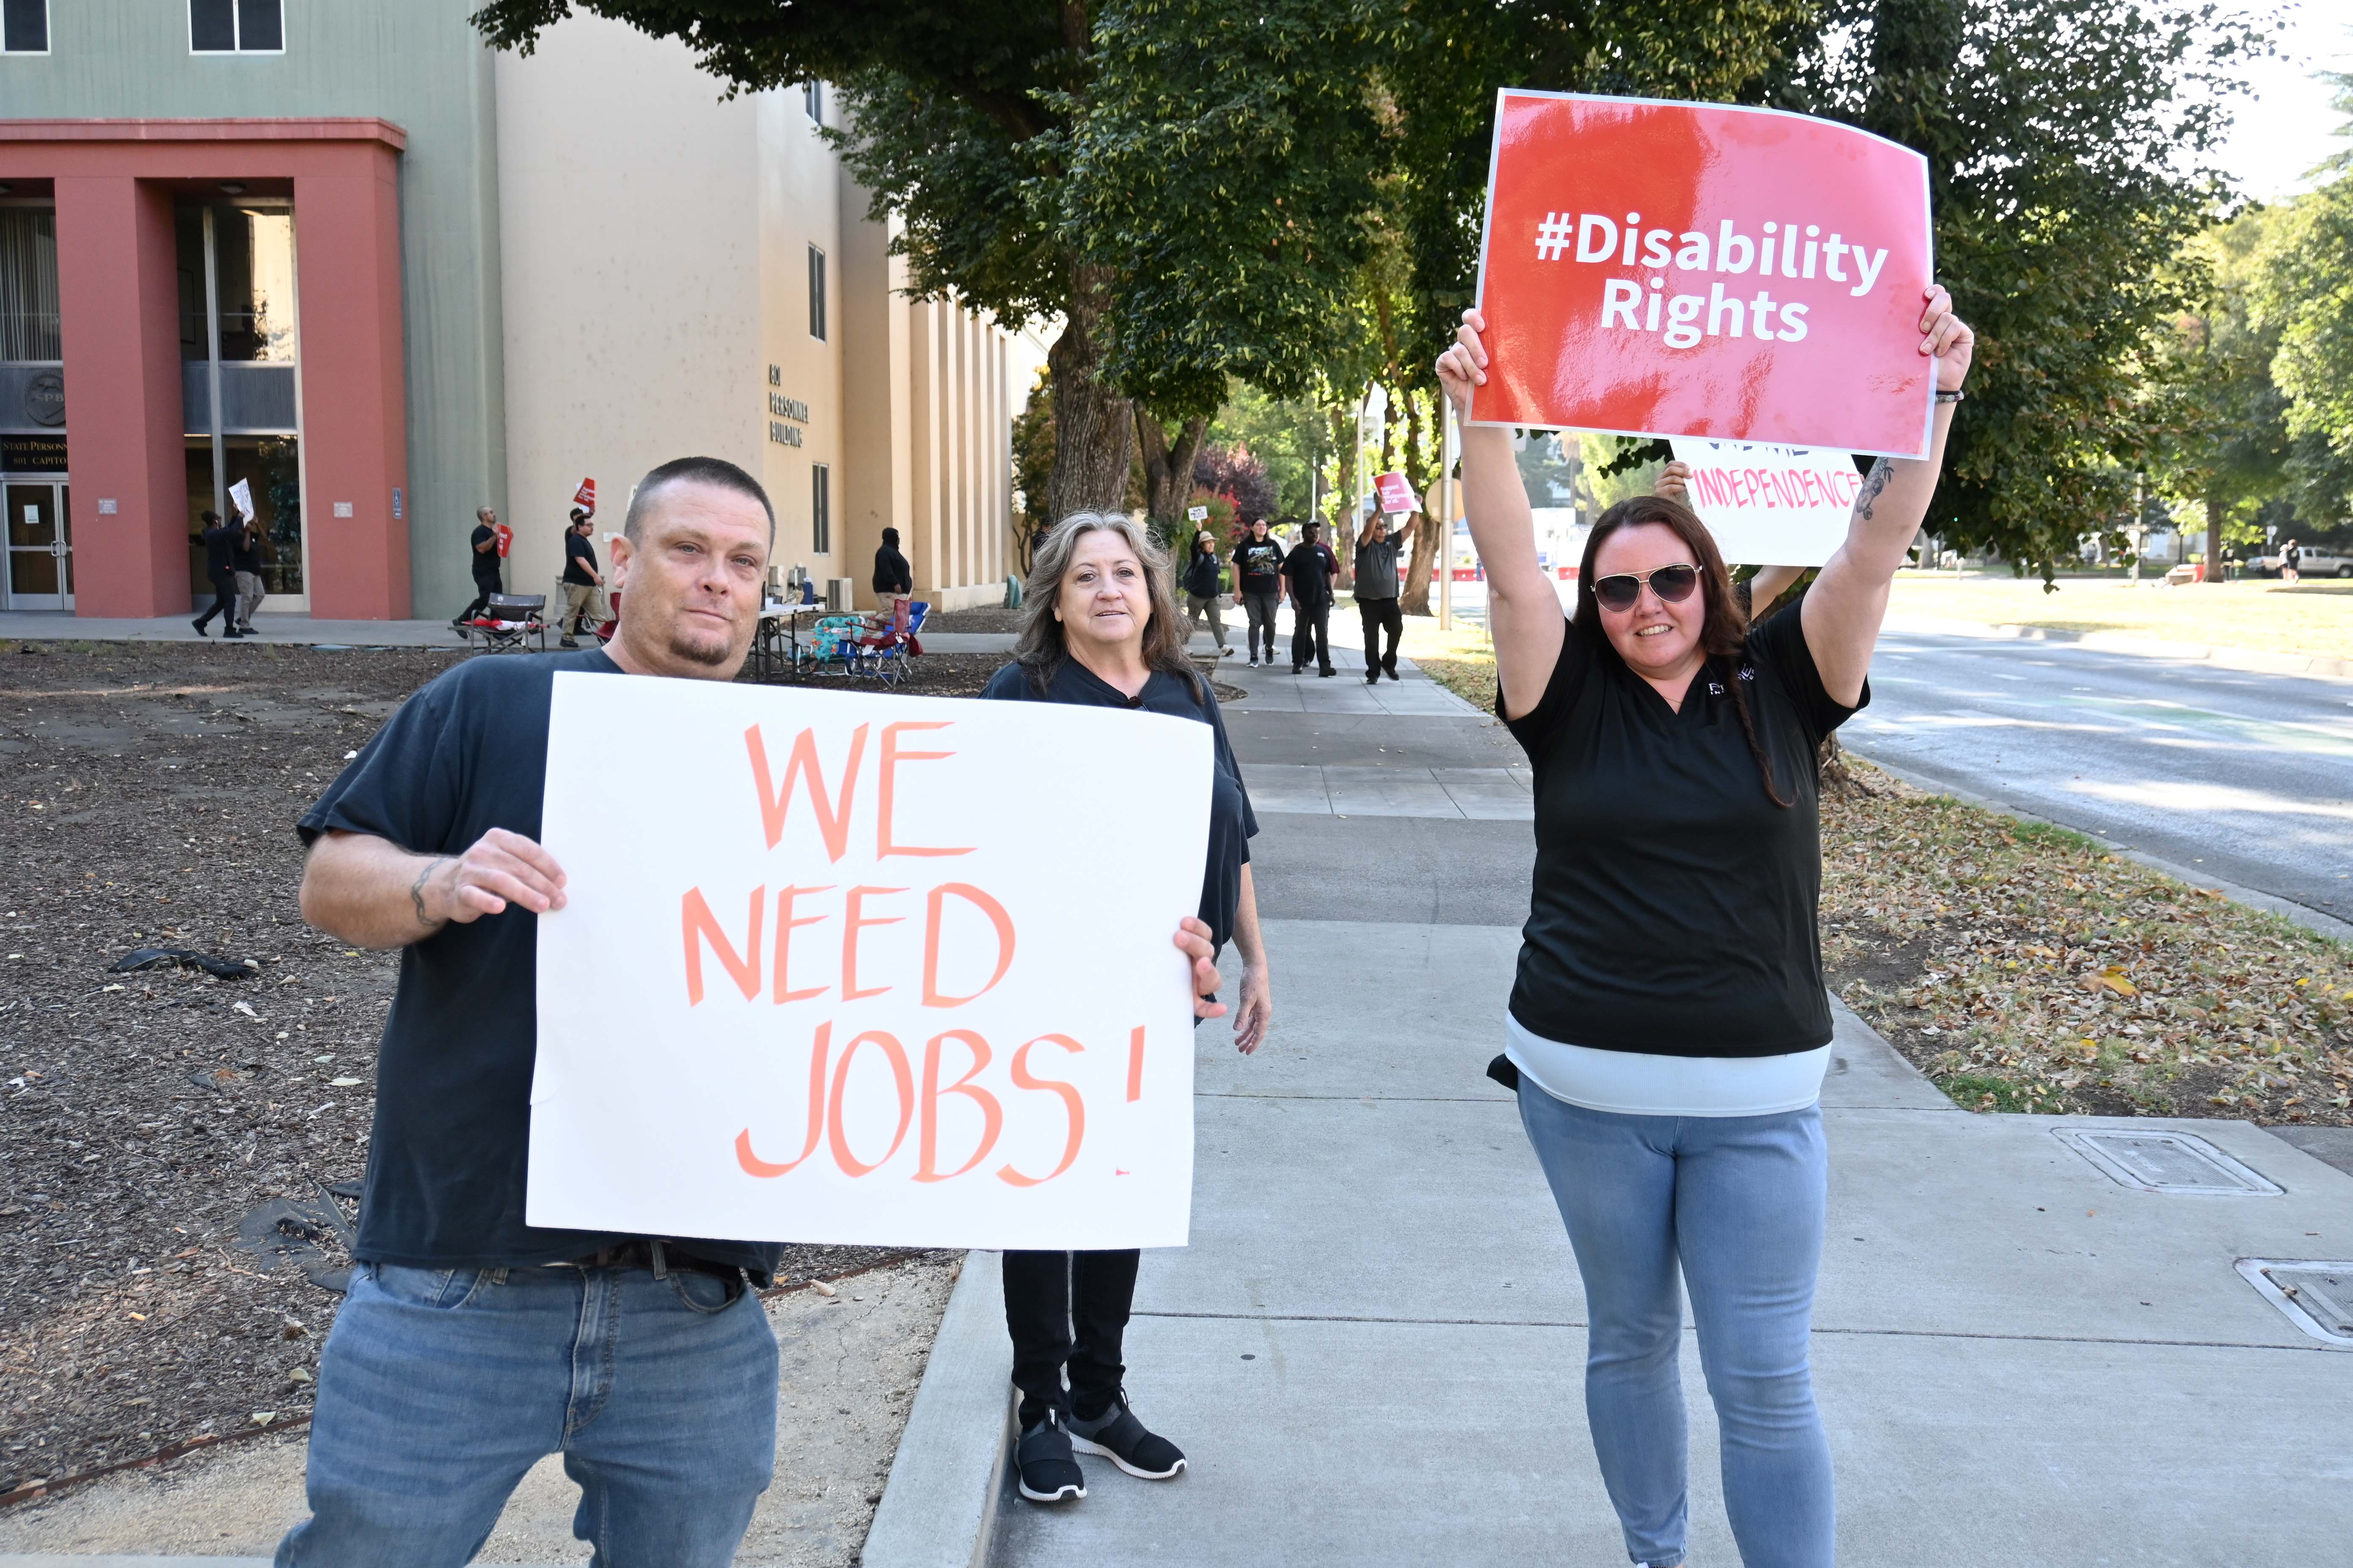
[[[1515,134],[1513,96],[1499,115],[1499,148]],[[1760,120],[1788,129],[1784,122]],[[1649,127],[1657,148],[1689,155],[1689,122],[1682,134],[1673,125],[1619,106],[1593,118],[1588,141],[1565,136],[1555,167],[1593,169],[1598,181],[1657,174],[1661,162],[1640,165],[1645,143],[1626,134]],[[1704,310],[1708,296],[1687,287],[1671,294],[1666,270],[1678,242],[1708,237],[1697,219],[1715,219],[1715,209],[1701,214],[1673,190],[1661,202],[1654,179],[1642,193],[1612,188],[1609,209],[1581,202],[1600,209],[1600,221],[1591,221],[1593,212],[1572,221],[1558,212],[1567,202],[1555,202],[1539,242],[1553,249],[1551,263],[1591,235],[1591,287],[1555,289],[1534,277],[1499,287],[1489,268],[1482,303],[1511,329],[1489,346],[1489,317],[1466,310],[1457,343],[1438,360],[1440,386],[1466,421],[1478,407],[1480,421],[1593,425],[1605,421],[1562,411],[1621,407],[1628,411],[1607,416],[1607,428],[1922,454],[1880,456],[1798,614],[1751,628],[1706,524],[1675,498],[1638,496],[1595,520],[1572,621],[1537,562],[1508,430],[1464,430],[1497,710],[1527,750],[1537,816],[1506,1053],[1489,1077],[1518,1091],[1522,1126],[1577,1251],[1591,1314],[1586,1413],[1626,1549],[1640,1563],[1680,1563],[1689,1544],[1682,1394],[1673,1375],[1682,1333],[1678,1269],[1699,1314],[1699,1342],[1758,1368],[1711,1378],[1741,1559],[1826,1566],[1835,1554],[1831,1448],[1807,1368],[1828,1187],[1819,1098],[1831,1051],[1814,755],[1871,701],[1864,677],[1887,585],[1937,489],[1972,353],[1946,292],[1920,275],[1899,287],[1899,322],[1859,317],[1842,353],[1807,367],[1800,383],[1814,411],[1781,400],[1784,355],[1826,336],[1821,322],[1831,320],[1828,310],[1791,320],[1805,284],[1852,280],[1847,299],[1866,301],[1887,287],[1899,254],[1894,235],[1882,256],[1878,235],[1847,214],[1835,235],[1805,233],[1807,244],[1793,244],[1788,214],[1828,230],[1840,193],[1817,188],[1817,207],[1795,207],[1805,190],[1791,179],[1824,179],[1795,150],[1819,139],[1791,132],[1779,146],[1791,150],[1786,167],[1734,167],[1753,176],[1751,193],[1791,197],[1788,207],[1774,202],[1772,275],[1798,287],[1784,284],[1781,301],[1765,301],[1760,289],[1739,343],[1718,341],[1706,353],[1704,331],[1692,341],[1701,315],[1687,306],[1697,299]],[[1697,183],[1725,200],[1744,193],[1708,181]],[[1499,190],[1489,261],[1508,212]],[[1624,214],[1624,228],[1645,223],[1635,212],[1666,212],[1689,233],[1664,233],[1652,249],[1652,233],[1640,228],[1640,247],[1605,254],[1602,240],[1617,244],[1624,235],[1609,212]],[[1715,261],[1732,249],[1732,270],[1762,266],[1758,228],[1737,228],[1732,214],[1718,223],[1706,247]],[[1871,235],[1873,249],[1857,256],[1857,235]],[[1817,237],[1838,240],[1835,259],[1849,280],[1828,275],[1833,256],[1814,247]],[[1711,266],[1701,247],[1689,254],[1685,270]],[[1657,289],[1605,275],[1638,261],[1659,268]],[[1755,334],[1772,320],[1765,303],[1781,324],[1758,353]],[[1605,317],[1609,306],[1617,310]],[[1725,313],[1722,339],[1739,310]],[[1654,327],[1659,336],[1649,339]],[[1675,327],[1685,331],[1668,341]],[[1694,357],[1678,364],[1668,357],[1675,353]],[[1908,437],[1901,425],[1922,416],[1925,440]]]

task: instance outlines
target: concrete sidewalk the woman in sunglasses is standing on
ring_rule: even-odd
[[[1527,825],[1344,818],[1332,799],[1341,773],[1386,771],[1395,792],[1511,773],[1518,748],[1466,717],[1275,712],[1242,684],[1275,1027],[1257,1058],[1200,1030],[1193,1241],[1146,1255],[1127,1340],[1129,1394],[1191,1472],[1146,1483],[1094,1460],[1066,1509],[1007,1488],[981,1556],[1624,1563],[1584,1420],[1577,1265],[1482,1077]],[[1322,806],[1285,773],[1308,766]],[[1814,1375],[1842,1561],[2344,1554],[2353,1356],[2233,1265],[2353,1258],[2353,1175],[2235,1121],[1977,1117],[1842,1009],[1824,1110]],[[2125,1187],[2057,1135],[2087,1126],[2188,1131],[2282,1192]],[[1685,1385],[1692,1563],[1729,1568],[1697,1349]]]

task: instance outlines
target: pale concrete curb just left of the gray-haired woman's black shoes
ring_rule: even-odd
[[[859,1549],[861,1568],[986,1563],[1012,1455],[1009,1363],[1005,1258],[965,1253],[882,1502]]]

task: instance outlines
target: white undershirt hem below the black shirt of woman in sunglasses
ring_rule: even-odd
[[[1595,1051],[1534,1034],[1504,1011],[1504,1056],[1544,1093],[1621,1117],[1774,1117],[1821,1100],[1831,1046],[1786,1056]]]

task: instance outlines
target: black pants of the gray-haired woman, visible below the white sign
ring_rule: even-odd
[[[1094,1420],[1120,1396],[1120,1338],[1136,1300],[1136,1253],[1005,1253],[1005,1331],[1014,1340],[1021,1425],[1061,1410]],[[1061,1387],[1071,1371],[1068,1394]]]

